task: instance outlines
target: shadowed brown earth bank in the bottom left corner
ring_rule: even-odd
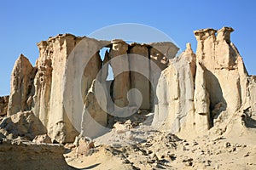
[[[61,144],[4,141],[0,144],[1,169],[73,169],[63,153]]]

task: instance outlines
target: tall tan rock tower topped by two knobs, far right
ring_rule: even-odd
[[[198,41],[196,58],[206,70],[207,91],[210,110],[218,103],[225,104],[225,110],[236,112],[245,98],[247,71],[236,47],[230,42],[230,27],[218,31],[205,29],[195,31]]]

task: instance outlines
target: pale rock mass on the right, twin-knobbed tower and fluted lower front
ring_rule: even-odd
[[[180,135],[205,133],[223,121],[218,117],[223,111],[229,119],[236,111],[255,105],[255,99],[249,97],[253,78],[247,76],[241,56],[230,42],[231,31],[230,27],[218,32],[195,31],[196,54],[187,46],[177,59],[171,59],[158,82],[154,126]]]

